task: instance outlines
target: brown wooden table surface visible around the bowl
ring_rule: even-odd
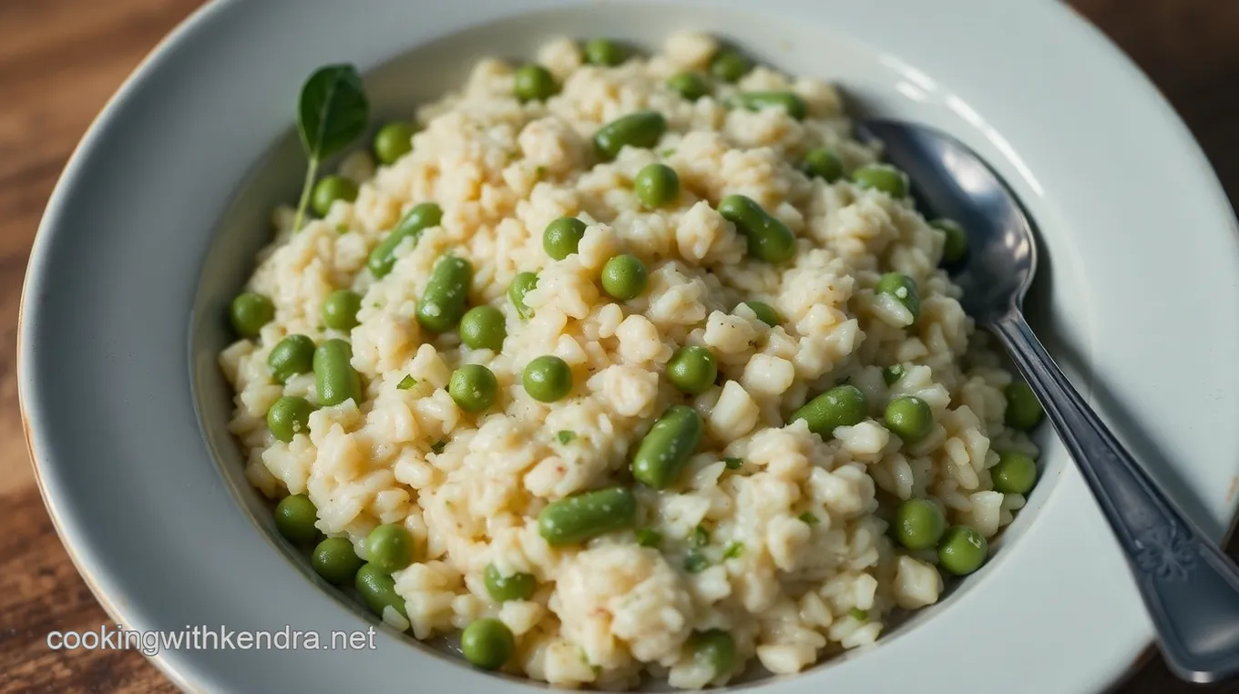
[[[125,76],[198,4],[0,2],[0,692],[176,690],[136,652],[46,646],[52,630],[84,631],[110,620],[69,563],[35,487],[17,411],[14,352],[26,258],[61,169]],[[1073,5],[1157,83],[1199,139],[1230,200],[1239,200],[1239,2]],[[1046,50],[1052,50],[1052,37],[1046,37]],[[1230,553],[1239,555],[1239,542]],[[1177,683],[1160,658],[1119,689],[1192,690]],[[1239,694],[1239,683],[1214,690]]]

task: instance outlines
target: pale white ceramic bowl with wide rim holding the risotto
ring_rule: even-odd
[[[1052,349],[1197,522],[1239,485],[1234,218],[1173,112],[1051,0],[217,1],[129,79],[74,154],[35,243],[20,389],[47,506],[95,595],[135,630],[323,635],[373,620],[273,533],[224,430],[228,297],[300,182],[315,67],[369,71],[378,115],[554,35],[654,45],[675,29],[843,86],[861,110],[948,130],[1014,185],[1047,259]],[[411,51],[411,52],[410,52]],[[1040,309],[1040,311],[1036,311]],[[761,684],[815,692],[1098,692],[1151,627],[1064,451],[992,560],[873,648]],[[204,692],[532,692],[380,631],[367,651],[165,651]]]

